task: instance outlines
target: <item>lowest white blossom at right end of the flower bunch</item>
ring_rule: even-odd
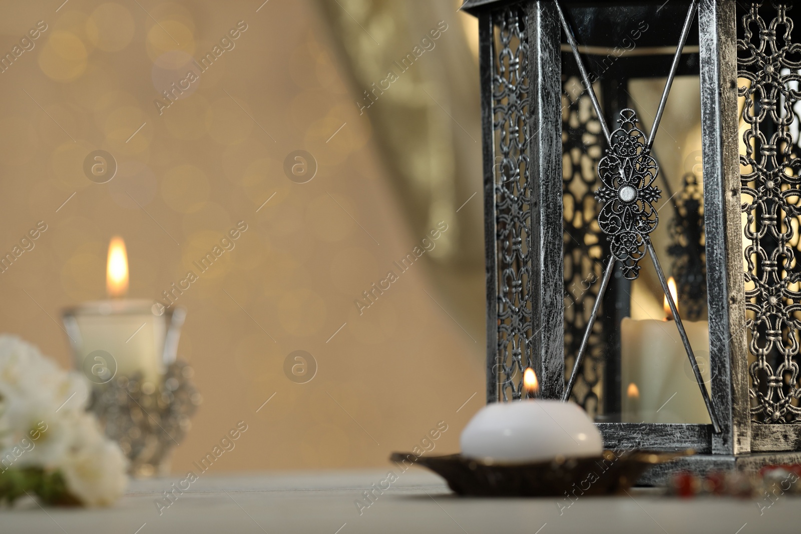
[[[127,458],[119,445],[101,434],[95,418],[78,419],[74,440],[59,466],[67,488],[87,506],[107,506],[127,488]]]

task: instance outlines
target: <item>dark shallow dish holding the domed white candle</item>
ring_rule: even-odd
[[[389,460],[421,464],[464,496],[544,497],[615,495],[631,488],[646,469],[691,452],[612,451],[590,458],[557,458],[536,464],[501,464],[447,456],[393,452]]]

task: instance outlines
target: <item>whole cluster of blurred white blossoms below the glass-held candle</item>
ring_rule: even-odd
[[[2,468],[60,471],[70,494],[87,506],[119,499],[127,459],[86,412],[86,379],[63,371],[37,347],[0,335]]]

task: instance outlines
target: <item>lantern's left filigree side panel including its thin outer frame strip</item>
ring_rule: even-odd
[[[487,402],[496,402],[519,399],[523,371],[533,365],[529,34],[519,6],[482,20],[484,143],[491,154],[485,155]]]

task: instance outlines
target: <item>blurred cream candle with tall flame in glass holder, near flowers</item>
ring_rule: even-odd
[[[128,291],[125,242],[111,238],[106,290],[109,299],[78,304],[63,312],[76,367],[94,383],[141,374],[143,390],[155,389],[165,371],[165,316],[154,302],[125,299]],[[107,353],[107,354],[106,354]],[[109,358],[111,355],[111,358]]]

